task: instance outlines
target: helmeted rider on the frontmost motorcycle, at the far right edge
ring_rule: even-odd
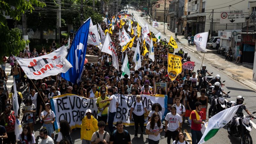
[[[236,97],[236,102],[235,102],[235,103],[232,103],[231,107],[237,106],[237,105],[241,105],[241,104],[243,104],[243,102],[244,102],[244,97],[241,96],[241,95],[239,95],[239,96]],[[240,107],[237,109],[236,115],[238,115],[239,113],[242,113],[242,112],[243,112],[243,109],[246,111],[246,113],[247,113],[248,115],[252,116],[251,112],[246,108],[245,105],[242,105],[242,106],[240,106]],[[235,115],[235,116],[232,118],[232,120],[231,120],[231,124],[230,124],[231,132],[233,132],[233,128],[234,128],[234,126],[235,126],[235,124],[236,124],[236,115]]]

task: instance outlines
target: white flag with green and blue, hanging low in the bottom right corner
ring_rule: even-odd
[[[209,122],[204,124],[206,130],[204,131],[204,134],[198,144],[202,144],[207,140],[211,139],[220,130],[220,128],[228,124],[228,122],[236,114],[236,111],[240,106],[241,105],[233,106],[212,116],[209,119]]]

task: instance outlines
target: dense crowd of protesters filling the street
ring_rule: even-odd
[[[133,27],[137,26],[137,22],[133,22]],[[124,25],[124,29],[128,26]],[[101,23],[102,29],[108,29],[105,22]],[[148,134],[148,143],[157,144],[160,140],[160,133],[164,130],[167,143],[170,144],[171,139],[173,143],[187,143],[184,134],[182,133],[182,125],[188,124],[191,127],[192,143],[197,143],[202,133],[200,133],[201,124],[206,119],[206,113],[201,112],[201,108],[207,109],[208,99],[204,96],[205,90],[200,90],[201,96],[197,94],[199,89],[197,84],[199,77],[193,70],[184,70],[177,76],[174,81],[171,81],[167,72],[167,53],[170,45],[166,41],[156,43],[154,48],[155,61],[148,58],[148,54],[143,57],[141,61],[141,68],[135,70],[135,63],[132,62],[133,51],[127,49],[122,53],[122,48],[118,40],[119,27],[115,24],[115,29],[110,35],[113,44],[116,47],[116,53],[119,61],[119,72],[113,67],[111,56],[103,53],[94,45],[87,45],[86,54],[98,56],[99,61],[95,64],[86,63],[84,71],[79,84],[72,84],[67,80],[61,78],[60,74],[56,76],[48,76],[44,79],[33,80],[25,76],[24,71],[12,55],[8,59],[3,56],[1,64],[1,80],[0,80],[0,98],[1,98],[1,126],[0,134],[3,138],[3,143],[15,143],[14,125],[15,116],[12,111],[12,90],[9,93],[6,87],[8,77],[5,73],[5,64],[10,63],[12,66],[11,76],[15,77],[17,90],[25,88],[29,92],[29,96],[22,97],[21,92],[18,92],[18,98],[24,100],[24,106],[21,108],[23,118],[23,132],[20,133],[19,139],[21,143],[36,143],[34,135],[35,121],[41,121],[43,129],[40,130],[40,138],[38,143],[53,144],[54,131],[53,123],[55,121],[55,114],[51,110],[50,99],[54,96],[62,94],[76,94],[86,99],[97,98],[98,113],[101,116],[92,116],[90,109],[86,110],[86,115],[82,120],[81,125],[81,140],[83,144],[120,144],[131,143],[131,137],[128,131],[123,129],[122,121],[116,123],[116,129],[113,129],[113,121],[116,115],[116,108],[118,102],[115,94],[132,94],[137,95],[136,101],[132,104],[130,112],[130,120],[133,119],[135,124],[135,135],[138,137],[138,129],[140,125],[140,132]],[[129,32],[128,32],[129,33]],[[130,34],[130,33],[129,33]],[[130,35],[131,36],[131,35]],[[154,37],[154,34],[152,33]],[[131,36],[132,37],[132,36]],[[72,41],[72,38],[71,38]],[[141,42],[143,42],[141,40]],[[142,43],[140,42],[140,46]],[[67,40],[62,40],[61,45],[66,45]],[[71,43],[71,42],[70,42]],[[136,42],[133,46],[136,47]],[[149,45],[147,44],[147,47]],[[53,41],[49,48],[42,47],[42,51],[37,52],[33,49],[32,52],[28,48],[24,52],[20,52],[18,57],[34,58],[45,55],[56,50],[56,43]],[[130,78],[122,75],[122,54],[127,54],[130,67]],[[167,91],[164,88],[155,90],[157,82],[166,82]],[[150,112],[147,111],[143,101],[141,101],[140,94],[148,94],[155,96],[157,94],[167,95],[168,112],[162,114],[162,106],[155,103]],[[41,96],[42,98],[41,98]],[[195,112],[196,111],[196,112]],[[202,117],[197,119],[196,113]],[[144,114],[148,115],[148,124],[144,131]],[[164,118],[164,120],[162,120]],[[11,123],[11,121],[12,123]],[[107,121],[108,120],[108,121]],[[164,121],[165,123],[162,123]],[[109,133],[106,132],[106,123],[108,122]],[[163,124],[165,128],[163,129]],[[60,121],[60,132],[58,134],[57,143],[72,143],[70,137],[71,128],[67,121]],[[1,140],[1,139],[0,139]]]

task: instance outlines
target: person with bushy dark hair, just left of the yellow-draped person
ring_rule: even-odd
[[[72,132],[70,125],[66,120],[61,120],[60,121],[60,132],[58,134],[57,138],[57,144],[60,143],[60,140],[67,138],[70,136],[70,133]]]

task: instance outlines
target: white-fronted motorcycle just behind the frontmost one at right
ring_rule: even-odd
[[[228,93],[230,93],[230,91]],[[213,115],[226,109],[227,103],[228,103],[227,98],[230,98],[230,96],[227,96],[227,95],[223,96],[223,93],[221,94],[221,96],[214,95],[211,97],[211,99],[214,100],[214,107],[212,109]]]

